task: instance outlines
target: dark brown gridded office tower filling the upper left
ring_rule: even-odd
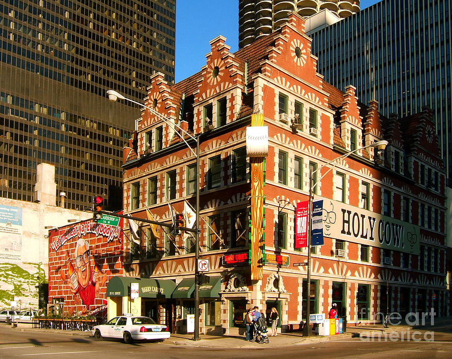
[[[0,4],[0,194],[39,200],[36,165],[55,165],[57,198],[93,193],[122,208],[123,147],[150,76],[174,82],[176,0],[4,0]],[[118,201],[118,197],[120,200]]]

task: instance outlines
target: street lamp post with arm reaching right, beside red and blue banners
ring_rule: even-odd
[[[308,259],[307,259],[307,275],[306,275],[306,322],[304,324],[303,327],[303,336],[310,336],[312,335],[312,330],[311,330],[311,326],[310,326],[310,299],[311,299],[311,243],[312,243],[312,202],[314,199],[314,188],[317,185],[317,183],[319,183],[323,177],[325,177],[329,171],[331,171],[334,167],[336,167],[337,163],[333,164],[330,168],[328,168],[328,171],[326,171],[315,183],[313,182],[313,175],[317,172],[319,172],[323,167],[332,164],[334,161],[340,161],[345,159],[346,157],[349,157],[351,154],[358,152],[360,150],[364,150],[366,148],[378,148],[378,151],[384,151],[384,149],[386,148],[386,145],[388,144],[388,141],[385,140],[381,140],[381,141],[377,141],[374,142],[371,145],[368,146],[364,146],[364,147],[360,147],[356,150],[353,151],[349,151],[346,154],[340,156],[340,157],[336,157],[335,159],[325,163],[323,166],[321,166],[320,168],[316,169],[315,171],[312,171],[311,169],[309,170],[309,202],[308,202],[308,235],[307,235],[307,251],[308,251]]]

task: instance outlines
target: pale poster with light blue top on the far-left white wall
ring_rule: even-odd
[[[22,208],[0,205],[0,261],[22,260]]]

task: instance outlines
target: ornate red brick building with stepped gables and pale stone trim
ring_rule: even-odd
[[[353,86],[325,83],[296,14],[234,54],[224,41],[213,39],[206,65],[175,85],[152,76],[145,98],[200,137],[200,258],[210,264],[201,332],[243,333],[243,313],[254,305],[276,307],[281,330],[304,320],[306,267],[293,264],[306,262],[307,251],[294,248],[295,212],[308,199],[310,169],[318,170],[314,182],[325,175],[314,188],[323,198],[324,244],[311,251],[310,312],[335,302],[349,321],[381,320],[387,306],[447,315],[445,172],[431,111],[385,118],[376,101],[360,103]],[[265,159],[247,156],[255,125],[268,129]],[[136,129],[124,152],[124,210],[170,223],[170,208],[194,206],[196,159],[147,109]],[[359,150],[381,139],[389,142],[384,157]],[[327,173],[329,161],[354,150]],[[125,246],[124,276],[176,286],[171,295],[123,298],[123,307],[185,331],[194,310],[193,238],[139,224],[140,244]]]

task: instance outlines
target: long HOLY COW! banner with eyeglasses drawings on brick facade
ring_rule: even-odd
[[[419,226],[330,199],[323,200],[323,235],[419,255]]]

